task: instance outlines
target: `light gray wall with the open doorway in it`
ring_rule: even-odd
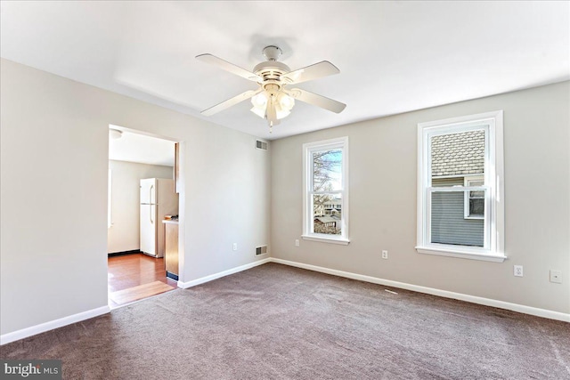
[[[264,258],[271,157],[254,136],[12,61],[0,69],[0,334],[107,305],[110,124],[182,141],[181,280]]]

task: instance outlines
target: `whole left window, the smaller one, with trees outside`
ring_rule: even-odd
[[[303,239],[348,244],[348,137],[303,145]]]

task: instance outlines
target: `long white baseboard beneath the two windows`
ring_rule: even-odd
[[[493,306],[499,309],[522,312],[524,314],[530,314],[537,317],[557,319],[557,320],[562,320],[564,322],[570,322],[570,314],[566,314],[564,312],[539,309],[518,303],[507,303],[504,301],[493,300],[490,298],[477,297],[475,295],[464,295],[461,293],[449,292],[447,290],[436,289],[433,287],[419,287],[418,285],[407,284],[405,282],[392,281],[390,279],[379,279],[376,277],[365,276],[362,274],[356,274],[349,271],[337,271],[334,269],[324,268],[311,264],[290,262],[289,260],[282,260],[274,257],[271,258],[271,262],[294,266],[309,271],[320,271],[322,273],[332,274],[339,277],[345,277],[346,279],[358,279],[365,282],[371,282],[373,284],[385,285],[387,287],[399,287],[401,289],[411,290],[419,293],[425,293],[428,295],[438,295],[440,297],[452,298],[455,300],[466,301],[468,303],[478,303],[485,306]]]

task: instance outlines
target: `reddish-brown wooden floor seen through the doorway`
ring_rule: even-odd
[[[176,288],[176,281],[167,278],[164,258],[117,255],[109,257],[108,266],[111,309]]]

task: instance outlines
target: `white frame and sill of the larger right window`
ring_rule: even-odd
[[[504,255],[504,190],[503,179],[503,112],[486,112],[466,117],[453,117],[418,124],[418,214],[417,246],[419,254],[444,255],[502,263]],[[429,242],[431,158],[429,141],[437,134],[460,133],[485,129],[485,186],[463,187],[461,190],[485,190],[484,247],[456,246]]]

